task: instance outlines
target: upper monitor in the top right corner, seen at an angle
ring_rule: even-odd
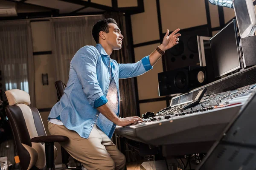
[[[253,36],[256,15],[253,0],[232,0],[241,38]]]

